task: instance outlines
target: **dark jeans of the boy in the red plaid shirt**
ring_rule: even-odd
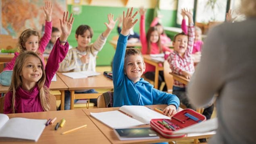
[[[186,88],[173,86],[173,95],[176,95],[179,98],[179,101],[183,105],[185,105],[187,108],[195,110],[195,108],[192,107],[191,103],[189,103],[187,93],[186,93]],[[209,107],[204,108],[202,115],[204,115],[206,119],[210,119],[212,116],[213,109],[214,109],[213,104],[210,105]]]

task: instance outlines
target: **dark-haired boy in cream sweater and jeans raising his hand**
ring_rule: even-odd
[[[69,49],[69,52],[62,63],[60,63],[60,72],[81,72],[96,71],[96,57],[98,52],[106,43],[108,35],[114,29],[117,20],[114,21],[114,15],[108,14],[108,23],[106,30],[99,35],[94,43],[91,43],[93,31],[88,25],[80,25],[75,31],[77,47]],[[94,89],[85,89],[75,91],[75,93],[97,93]],[[76,102],[75,100],[74,102]],[[74,103],[72,102],[72,103]],[[90,99],[90,102],[97,104],[97,99]],[[70,109],[71,94],[65,91],[65,109]]]

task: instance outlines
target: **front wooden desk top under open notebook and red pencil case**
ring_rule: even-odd
[[[150,107],[151,109],[154,109],[155,107],[164,109],[167,105],[148,105],[147,107]],[[95,125],[99,128],[99,130],[108,138],[108,140],[112,144],[129,144],[129,143],[155,143],[155,142],[172,142],[172,141],[179,141],[179,140],[191,140],[191,139],[198,139],[198,138],[210,138],[213,136],[214,133],[205,133],[205,134],[190,134],[188,136],[185,136],[183,138],[163,138],[160,136],[160,139],[153,139],[153,140],[119,140],[114,131],[103,124],[102,122],[98,121],[97,119],[94,119],[94,117],[90,116],[90,113],[99,113],[99,112],[104,112],[104,111],[114,111],[118,110],[119,107],[110,107],[110,108],[98,108],[98,109],[83,109],[83,111],[86,113],[86,115],[93,121]],[[113,117],[114,118],[114,117]],[[136,128],[141,128],[141,127],[150,127],[150,125],[142,125],[138,126]]]

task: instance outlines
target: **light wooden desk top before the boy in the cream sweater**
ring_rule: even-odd
[[[82,89],[108,89],[114,88],[113,81],[103,75],[103,72],[98,76],[90,76],[88,78],[70,78],[57,73],[63,82],[69,87],[69,90],[82,90]]]

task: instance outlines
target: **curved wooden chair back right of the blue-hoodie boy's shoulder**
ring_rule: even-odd
[[[173,75],[170,74],[172,72],[169,62],[167,60],[164,61],[164,81],[167,86],[167,93],[173,93]]]

